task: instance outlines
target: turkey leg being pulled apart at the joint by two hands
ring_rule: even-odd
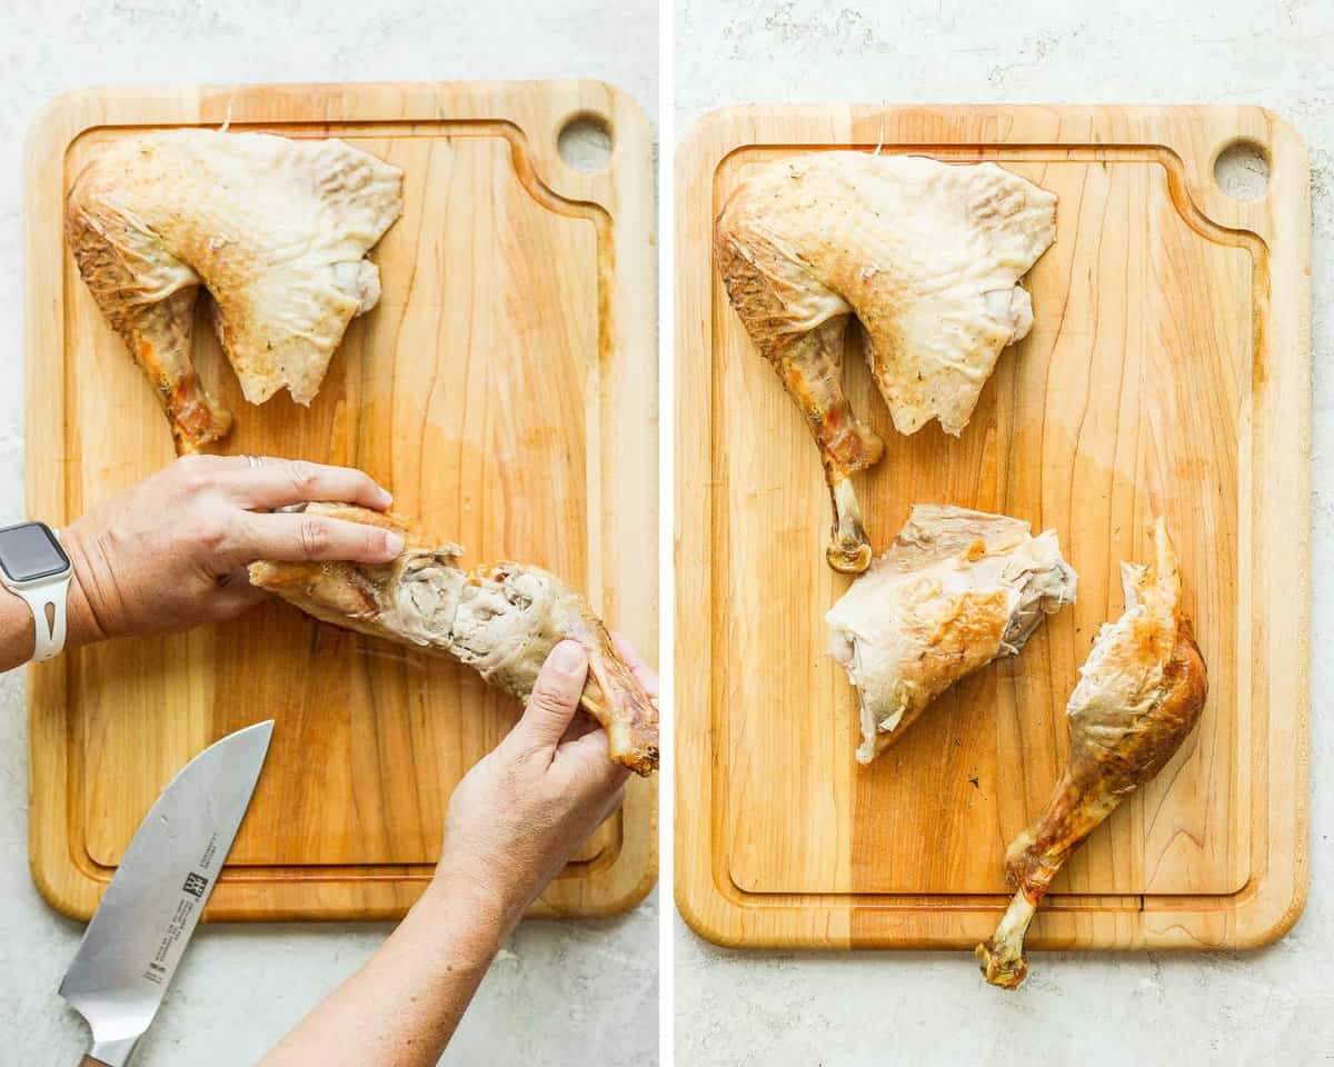
[[[304,509],[395,529],[407,548],[378,566],[259,562],[253,586],[325,623],[454,656],[520,702],[551,650],[575,640],[588,655],[580,704],[607,731],[607,754],[639,775],[658,768],[652,698],[588,603],[555,575],[520,563],[466,571],[459,546],[422,547],[395,515],[352,504]]]

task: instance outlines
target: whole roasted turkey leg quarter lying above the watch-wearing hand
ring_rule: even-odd
[[[375,307],[366,253],[403,211],[403,172],[340,140],[172,129],[97,149],[65,204],[79,273],[157,391],[177,452],[232,416],[191,360],[195,296],[241,391],[309,404],[347,324]]]

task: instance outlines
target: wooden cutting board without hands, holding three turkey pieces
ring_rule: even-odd
[[[1242,203],[1238,140],[1270,161]],[[914,503],[1054,527],[1079,600],[944,695],[868,768],[824,655],[847,579],[824,564],[816,449],[727,303],[710,229],[756,165],[804,151],[994,160],[1059,195],[1037,323],[958,440],[894,432],[859,475],[872,546]],[[676,899],[732,946],[970,948],[1009,892],[1007,843],[1065,760],[1065,702],[1119,563],[1166,516],[1210,672],[1198,732],[1066,866],[1047,948],[1218,948],[1281,936],[1306,894],[1310,200],[1298,135],[1259,108],[758,107],[678,156]],[[850,337],[850,345],[855,344]]]

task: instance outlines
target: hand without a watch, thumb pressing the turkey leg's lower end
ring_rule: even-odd
[[[648,694],[658,679],[614,636]],[[432,894],[475,906],[503,939],[524,910],[624,799],[630,772],[607,758],[607,735],[578,715],[588,659],[575,642],[547,656],[523,718],[450,798]]]

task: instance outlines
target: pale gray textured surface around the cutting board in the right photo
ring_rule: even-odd
[[[680,1067],[1334,1059],[1331,47],[1334,11],[1318,0],[678,0],[678,139],[732,103],[1254,103],[1305,136],[1315,204],[1311,888],[1295,930],[1251,954],[1037,954],[1025,987],[1003,994],[963,952],[739,954],[678,918]]]

